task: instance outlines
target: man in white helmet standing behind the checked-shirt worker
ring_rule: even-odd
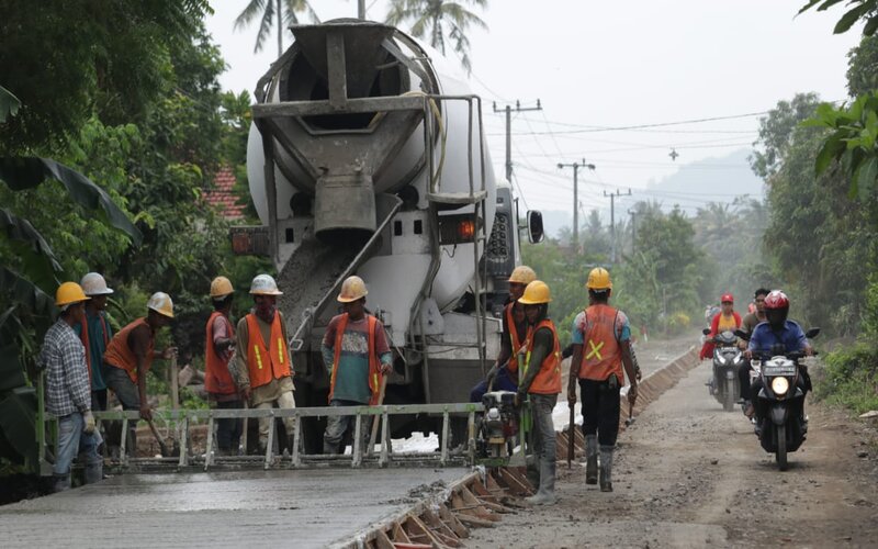
[[[86,362],[89,366],[91,378],[91,410],[106,410],[106,383],[103,380],[103,354],[110,339],[113,337],[113,328],[106,322],[106,296],[113,290],[106,288],[106,281],[97,272],[89,272],[79,282],[82,291],[89,300],[86,302],[86,315],[81,324],[74,326],[82,345],[86,347]]]

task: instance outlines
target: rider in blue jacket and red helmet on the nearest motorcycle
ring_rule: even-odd
[[[764,303],[765,322],[756,326],[753,330],[753,336],[750,338],[747,350],[744,351],[744,357],[748,360],[753,355],[772,354],[776,345],[783,345],[785,352],[804,352],[808,356],[813,355],[813,349],[808,344],[801,326],[796,322],[787,320],[789,315],[789,298],[780,290],[774,290],[765,296]],[[799,366],[799,377],[797,380],[799,389],[807,393],[811,389],[811,378],[808,376],[808,370],[804,366]],[[762,378],[756,378],[750,386],[750,394],[758,395],[763,389]],[[756,401],[756,430],[762,427],[762,419],[765,417],[764,406],[759,405],[758,399]],[[751,404],[751,408],[753,405]],[[752,415],[753,410],[747,410],[748,415]]]

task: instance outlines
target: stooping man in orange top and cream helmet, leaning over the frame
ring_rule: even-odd
[[[173,302],[165,292],[156,292],[146,303],[147,314],[122,328],[110,340],[103,355],[104,381],[122,403],[124,410],[137,410],[143,419],[150,421],[153,411],[146,395],[146,374],[153,360],[170,360],[177,347],[155,350],[156,332],[173,320]],[[127,449],[136,451],[137,422],[128,423]]]

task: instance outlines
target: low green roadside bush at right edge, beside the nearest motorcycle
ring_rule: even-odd
[[[866,341],[831,352],[814,392],[856,413],[878,410],[878,347]]]

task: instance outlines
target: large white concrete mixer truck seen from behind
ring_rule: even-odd
[[[465,402],[498,351],[520,262],[517,202],[495,179],[481,100],[459,67],[394,27],[291,30],[252,105],[247,172],[262,226],[234,229],[233,247],[277,266],[296,404],[327,405],[320,341],[354,273],[393,349],[385,403]],[[528,226],[540,240],[539,212]],[[393,436],[435,424],[395,417]],[[303,421],[307,452],[322,428]]]

